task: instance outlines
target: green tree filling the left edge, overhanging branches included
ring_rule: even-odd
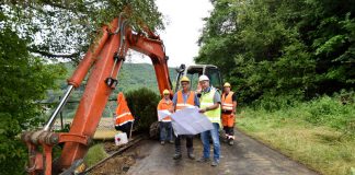
[[[57,60],[79,61],[102,24],[121,12],[138,32],[163,28],[153,0],[4,0],[0,2],[0,170],[24,174],[19,135],[41,126],[46,90],[65,74]],[[49,63],[50,62],[50,63]]]

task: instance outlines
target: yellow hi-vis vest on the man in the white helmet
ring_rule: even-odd
[[[216,93],[216,89],[211,88],[208,93],[203,93],[199,103],[201,108],[206,108],[208,106],[214,105],[214,96]],[[217,122],[220,125],[220,105],[218,105],[218,108],[205,112],[205,115],[208,117],[208,119],[211,122]]]

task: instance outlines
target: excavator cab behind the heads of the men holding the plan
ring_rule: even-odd
[[[198,78],[202,74],[205,74],[209,78],[210,85],[216,88],[217,90],[222,89],[222,78],[220,74],[220,71],[218,67],[214,65],[194,65],[194,66],[188,66],[186,68],[185,65],[181,65],[180,68],[176,69],[178,71],[178,78],[176,78],[176,86],[175,86],[175,92],[180,88],[180,79],[183,75],[188,77],[191,80],[191,90],[196,91],[198,88]]]

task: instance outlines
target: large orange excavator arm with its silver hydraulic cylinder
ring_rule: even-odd
[[[26,165],[28,174],[73,174],[89,149],[111,92],[118,84],[116,77],[128,49],[150,57],[160,93],[168,89],[172,94],[164,45],[158,35],[147,27],[144,28],[145,34],[136,33],[124,15],[119,15],[110,25],[101,28],[100,37],[89,48],[72,77],[68,79],[68,89],[44,128],[21,135],[28,148],[30,156]],[[51,126],[56,116],[89,70],[88,83],[70,131],[53,132]],[[61,155],[53,162],[53,148],[59,143],[64,143]]]

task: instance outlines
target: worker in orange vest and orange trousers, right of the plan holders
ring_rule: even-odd
[[[237,110],[237,95],[230,91],[230,84],[225,83],[221,95],[222,125],[226,132],[226,140],[229,145],[234,143],[234,119]]]

